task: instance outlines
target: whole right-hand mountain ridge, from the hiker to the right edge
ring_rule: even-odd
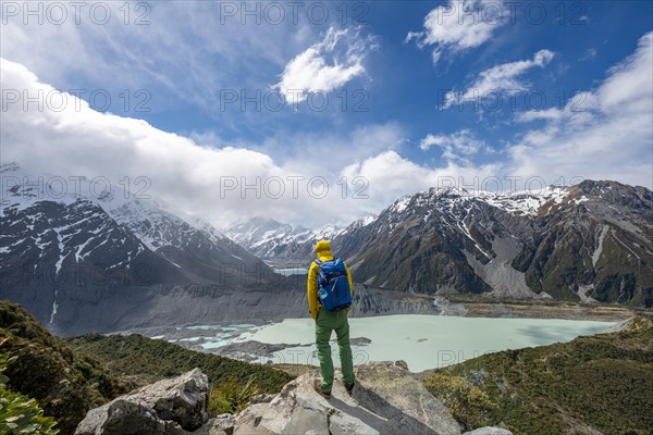
[[[332,234],[332,245],[373,287],[651,307],[652,198],[644,187],[593,181],[533,194],[430,189]],[[292,250],[276,244],[275,258],[312,252],[312,244],[288,237]]]

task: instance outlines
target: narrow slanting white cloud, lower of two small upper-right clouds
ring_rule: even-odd
[[[479,74],[479,78],[464,92],[449,91],[445,96],[444,108],[454,102],[480,101],[489,95],[516,95],[528,90],[520,76],[533,67],[545,66],[555,53],[550,50],[538,51],[532,60],[517,61],[492,66]]]

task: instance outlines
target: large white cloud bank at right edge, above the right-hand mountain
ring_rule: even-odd
[[[506,170],[517,175],[557,174],[616,179],[653,187],[653,33],[633,54],[608,71],[594,90],[565,108],[526,112],[517,121],[544,120],[508,148]]]

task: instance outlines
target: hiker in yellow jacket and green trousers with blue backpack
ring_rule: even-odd
[[[331,244],[320,240],[316,245],[318,259],[310,264],[307,281],[307,299],[310,315],[316,321],[316,345],[320,360],[322,382],[316,380],[316,391],[331,397],[333,386],[333,361],[331,359],[331,333],[335,331],[340,347],[343,383],[349,396],[354,389],[354,361],[349,345],[347,314],[352,304],[354,285],[346,264],[331,254]]]

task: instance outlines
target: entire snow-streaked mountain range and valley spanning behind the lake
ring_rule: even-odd
[[[0,297],[62,335],[305,316],[296,272],[323,237],[357,283],[355,316],[620,320],[653,306],[653,194],[643,187],[429,189],[345,227],[254,219],[222,233],[90,179],[53,198],[32,182],[51,175],[15,163],[0,175]]]

